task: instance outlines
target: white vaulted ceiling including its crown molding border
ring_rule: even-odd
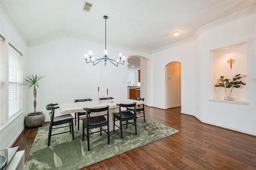
[[[252,8],[256,0],[1,0],[3,15],[28,45],[61,35],[151,53],[192,37],[213,21]],[[182,31],[178,37],[172,33]]]

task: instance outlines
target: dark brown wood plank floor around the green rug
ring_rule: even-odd
[[[146,118],[179,130],[143,147],[130,150],[83,170],[255,170],[256,137],[201,123],[181,114],[146,107]],[[48,126],[49,123],[44,123]],[[25,150],[25,160],[38,128],[26,128],[12,147]]]

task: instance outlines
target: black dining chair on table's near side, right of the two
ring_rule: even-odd
[[[132,124],[135,126],[135,134],[137,135],[137,122],[136,122],[136,102],[133,102],[132,104],[117,104],[119,106],[119,113],[114,113],[114,130],[115,126],[118,127],[121,130],[121,139],[123,139],[123,129],[122,126],[126,125],[126,129],[128,128],[128,124]],[[122,110],[122,108],[126,107]],[[127,108],[130,108],[127,110]],[[115,124],[115,121],[120,121],[120,126]],[[129,122],[128,120],[133,120],[133,122]],[[122,122],[126,121],[125,124]]]

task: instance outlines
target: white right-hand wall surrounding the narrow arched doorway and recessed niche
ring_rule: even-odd
[[[212,102],[210,88],[210,50],[229,45],[247,45],[248,105]],[[206,29],[194,41],[183,41],[153,51],[150,80],[150,104],[166,109],[164,66],[172,61],[182,63],[182,113],[200,121],[256,135],[256,14]]]

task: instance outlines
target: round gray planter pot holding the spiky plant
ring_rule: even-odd
[[[39,127],[45,121],[45,115],[42,111],[37,111],[36,114],[34,112],[28,113],[25,117],[25,125],[26,127]]]

